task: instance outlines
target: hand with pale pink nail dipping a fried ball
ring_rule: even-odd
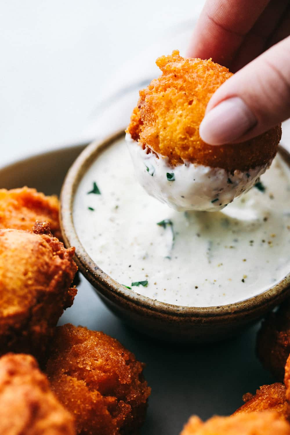
[[[200,137],[246,141],[290,117],[290,1],[207,0],[188,55],[232,72],[211,97]]]

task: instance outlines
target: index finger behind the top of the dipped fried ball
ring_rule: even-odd
[[[270,0],[207,0],[193,31],[188,56],[229,66],[245,35]]]

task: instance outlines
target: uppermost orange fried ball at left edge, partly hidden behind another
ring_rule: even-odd
[[[32,231],[36,220],[49,221],[52,234],[62,241],[57,196],[45,196],[27,186],[0,189],[0,229]]]

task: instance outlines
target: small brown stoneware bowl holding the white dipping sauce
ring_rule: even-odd
[[[92,162],[105,147],[122,135],[123,131],[85,148],[68,171],[60,196],[60,220],[65,243],[75,246],[80,271],[108,308],[144,334],[166,341],[198,343],[237,334],[290,295],[288,274],[279,284],[242,302],[216,307],[183,307],[142,296],[104,273],[87,254],[77,236],[73,223],[73,202],[78,184]],[[288,152],[281,146],[279,152],[290,165]]]

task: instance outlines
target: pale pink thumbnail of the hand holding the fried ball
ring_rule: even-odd
[[[229,98],[213,107],[200,124],[200,137],[210,145],[238,140],[257,124],[257,118],[239,97]]]

